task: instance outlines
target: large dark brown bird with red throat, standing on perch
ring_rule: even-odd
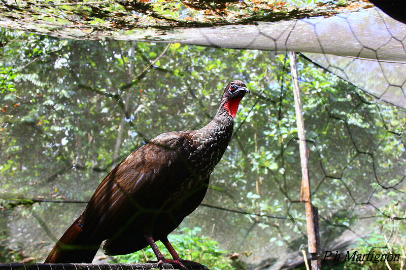
[[[167,236],[204,199],[209,178],[232,136],[241,99],[250,93],[232,80],[215,117],[199,130],[160,134],[128,155],[100,182],[86,209],[66,229],[46,263],[91,263],[100,245],[108,255],[151,246],[158,264],[185,262]],[[173,259],[165,258],[161,241]]]

